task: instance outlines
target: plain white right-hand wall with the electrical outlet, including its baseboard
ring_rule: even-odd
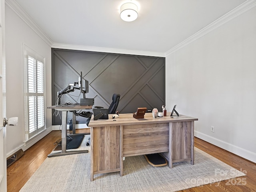
[[[195,136],[256,162],[255,7],[166,57],[174,104],[198,118]]]

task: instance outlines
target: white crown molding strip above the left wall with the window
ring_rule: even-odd
[[[52,46],[52,40],[42,31],[42,29],[28,16],[28,14],[19,6],[15,0],[5,0],[8,6],[22,21],[24,21],[40,38],[49,46]]]

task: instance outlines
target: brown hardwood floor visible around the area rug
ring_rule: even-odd
[[[77,133],[85,133],[88,129],[78,129]],[[44,162],[47,155],[55,148],[54,142],[61,138],[60,131],[52,131],[39,142],[25,151],[17,162],[7,168],[7,191],[18,192],[32,174]],[[182,192],[256,192],[256,164],[218,148],[208,142],[195,138],[195,146],[218,158],[226,164],[246,173],[246,176],[208,184]]]

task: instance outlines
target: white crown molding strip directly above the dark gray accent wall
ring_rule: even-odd
[[[52,48],[82,50],[82,51],[95,51],[95,52],[107,52],[107,53],[117,53],[117,54],[142,55],[142,56],[165,57],[164,53],[159,53],[159,52],[146,52],[146,51],[126,50],[126,49],[80,46],[80,45],[71,45],[71,44],[54,43],[54,44],[52,44]]]

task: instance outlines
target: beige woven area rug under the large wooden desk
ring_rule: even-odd
[[[88,135],[78,150],[89,153],[47,158],[20,192],[172,192],[245,176],[244,173],[195,148],[195,164],[153,167],[144,156],[126,157],[124,176],[97,174],[90,182]],[[57,152],[57,151],[54,151]]]

